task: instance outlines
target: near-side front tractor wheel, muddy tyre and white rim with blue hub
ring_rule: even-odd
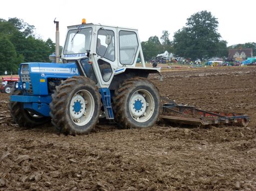
[[[99,90],[91,79],[73,76],[56,87],[50,109],[52,124],[60,133],[88,134],[98,122]]]

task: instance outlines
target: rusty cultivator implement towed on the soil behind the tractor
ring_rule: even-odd
[[[247,126],[250,117],[244,114],[210,112],[197,109],[191,105],[176,104],[171,101],[163,104],[164,121],[186,125],[210,125],[210,124],[234,124],[239,123]]]

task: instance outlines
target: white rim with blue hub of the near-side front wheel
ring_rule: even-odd
[[[73,95],[70,102],[70,117],[76,125],[83,126],[89,123],[94,110],[95,102],[89,91],[80,90]]]

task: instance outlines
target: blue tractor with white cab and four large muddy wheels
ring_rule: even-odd
[[[21,63],[9,109],[19,126],[51,121],[70,135],[89,133],[99,118],[147,128],[162,109],[150,73],[160,69],[145,66],[138,30],[83,22],[68,27],[54,63]]]

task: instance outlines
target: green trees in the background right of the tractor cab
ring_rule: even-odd
[[[224,58],[230,48],[252,48],[256,55],[256,43],[237,44],[227,47],[227,41],[221,40],[218,33],[218,19],[211,12],[200,11],[187,18],[186,26],[176,31],[171,41],[168,31],[163,31],[160,40],[157,36],[142,42],[146,61],[154,56],[168,51],[177,57],[207,59],[211,57]]]

